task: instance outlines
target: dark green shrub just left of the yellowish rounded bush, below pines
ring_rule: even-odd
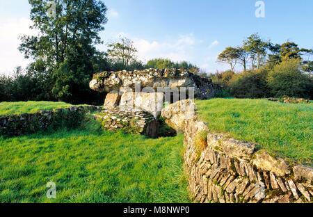
[[[237,98],[262,98],[268,95],[266,70],[236,74],[230,81],[230,93]]]

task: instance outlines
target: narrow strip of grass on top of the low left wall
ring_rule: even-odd
[[[22,113],[36,113],[40,110],[63,109],[71,104],[65,102],[1,102],[0,115],[19,115]]]

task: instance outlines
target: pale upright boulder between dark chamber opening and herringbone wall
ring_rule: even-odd
[[[161,116],[166,119],[166,124],[175,129],[177,133],[183,133],[186,120],[195,117],[195,104],[191,99],[169,104],[162,109]]]

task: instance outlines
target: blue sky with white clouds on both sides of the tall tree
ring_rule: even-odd
[[[256,17],[257,0],[104,0],[108,23],[97,45],[125,36],[134,41],[138,58],[170,58],[188,61],[209,73],[226,70],[218,54],[239,46],[252,33],[264,40],[296,42],[313,48],[313,1],[264,0],[264,17]],[[19,35],[29,29],[30,6],[26,0],[0,0],[0,74],[29,63],[19,53]]]

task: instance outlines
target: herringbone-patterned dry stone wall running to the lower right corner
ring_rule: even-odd
[[[204,143],[203,150],[199,143]],[[184,144],[184,166],[195,202],[312,202],[313,169],[308,166],[211,133],[196,119],[186,121]]]

